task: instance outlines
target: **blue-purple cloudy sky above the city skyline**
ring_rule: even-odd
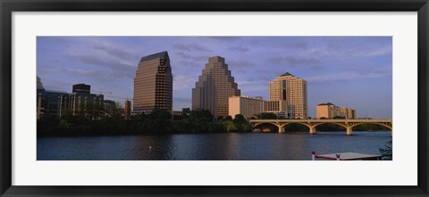
[[[290,72],[307,79],[309,116],[315,105],[334,103],[357,117],[391,118],[391,37],[38,37],[37,74],[48,90],[91,91],[132,98],[139,59],[167,51],[173,75],[173,107],[191,106],[191,89],[208,57],[229,65],[242,95],[262,95]],[[123,99],[105,99],[122,103]]]

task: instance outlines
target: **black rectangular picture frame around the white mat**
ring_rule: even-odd
[[[429,196],[427,0],[0,0],[1,196]],[[12,185],[13,12],[418,12],[418,181],[416,186],[15,186]],[[400,177],[397,177],[400,178]]]

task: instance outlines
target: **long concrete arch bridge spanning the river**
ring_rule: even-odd
[[[271,124],[279,128],[279,133],[284,132],[284,127],[291,123],[307,126],[310,134],[315,134],[315,127],[326,123],[345,127],[347,135],[353,133],[353,127],[361,124],[376,124],[392,130],[391,119],[250,119],[249,122],[253,127],[266,123]]]

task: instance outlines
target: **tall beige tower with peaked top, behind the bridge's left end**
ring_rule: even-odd
[[[286,101],[287,118],[307,119],[307,80],[289,72],[270,82],[270,101]]]

